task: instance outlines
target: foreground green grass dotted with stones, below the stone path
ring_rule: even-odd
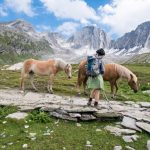
[[[3,124],[3,121],[7,123]],[[5,145],[7,150],[20,150],[23,144],[28,144],[30,150],[63,150],[63,147],[66,150],[112,150],[116,145],[123,148],[129,145],[136,150],[144,150],[149,139],[149,135],[143,132],[138,133],[140,136],[138,141],[125,143],[121,137],[116,137],[104,129],[106,125],[115,125],[113,122],[80,122],[81,127],[77,127],[76,122],[65,120],[59,120],[57,124],[56,122],[58,120],[55,118],[50,118],[47,123],[31,120],[30,117],[21,121],[3,118],[0,124],[0,148]],[[29,125],[29,128],[25,129],[24,125]],[[102,131],[96,132],[96,129]],[[43,135],[47,130],[50,135]],[[29,133],[36,133],[36,140],[32,141]],[[87,148],[86,141],[90,141],[93,147]]]

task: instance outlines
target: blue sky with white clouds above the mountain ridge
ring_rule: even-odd
[[[15,19],[65,36],[94,25],[115,39],[150,21],[150,0],[0,0],[0,22]]]

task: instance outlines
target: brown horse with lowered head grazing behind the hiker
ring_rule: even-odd
[[[77,78],[77,90],[78,94],[80,94],[79,87],[83,84],[84,94],[86,94],[86,82],[88,80],[88,76],[86,74],[86,65],[87,60],[82,60],[79,64],[78,68],[78,78]],[[109,81],[111,86],[111,94],[112,98],[115,97],[118,91],[118,84],[117,81],[119,78],[125,78],[128,81],[128,85],[131,89],[136,93],[138,91],[138,79],[136,75],[131,72],[128,68],[116,64],[105,64],[105,73],[103,75],[103,79],[105,81]]]

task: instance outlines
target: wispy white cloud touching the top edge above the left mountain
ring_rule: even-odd
[[[5,0],[4,4],[17,13],[23,12],[30,17],[35,15],[31,6],[32,0]]]

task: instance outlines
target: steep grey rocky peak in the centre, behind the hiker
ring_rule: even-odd
[[[87,46],[89,49],[109,48],[110,38],[100,28],[86,26],[81,31],[72,35],[68,41],[70,46],[75,49]]]

